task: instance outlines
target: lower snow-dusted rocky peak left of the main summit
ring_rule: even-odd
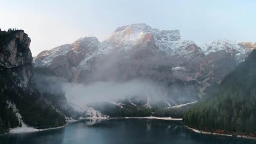
[[[72,44],[61,45],[51,50],[45,50],[39,53],[35,59],[37,69],[49,68],[55,75],[64,77],[69,81],[77,81],[77,67],[81,61],[91,56],[99,41],[96,37],[84,37],[76,40]]]

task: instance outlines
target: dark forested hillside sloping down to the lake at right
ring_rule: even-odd
[[[216,91],[184,112],[189,127],[203,131],[256,134],[256,50],[232,73]]]

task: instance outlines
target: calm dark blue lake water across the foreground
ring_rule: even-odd
[[[179,121],[81,120],[64,128],[0,136],[0,144],[256,144],[249,139],[195,133]]]

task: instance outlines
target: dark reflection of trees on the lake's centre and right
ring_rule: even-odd
[[[80,120],[75,125],[87,128],[105,128],[106,131],[112,131],[115,128],[118,133],[125,133],[128,136],[131,133],[139,132],[144,137],[166,137],[175,139],[191,139],[208,144],[255,144],[255,141],[248,139],[238,139],[228,136],[207,135],[195,133],[184,127],[181,121],[172,120],[154,120],[154,119],[105,119],[105,120]],[[125,132],[124,132],[125,131]],[[159,134],[157,136],[157,134]]]

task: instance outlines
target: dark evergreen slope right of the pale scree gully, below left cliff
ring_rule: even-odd
[[[66,124],[64,115],[53,109],[50,102],[35,91],[32,94],[20,88],[16,91],[4,91],[4,95],[16,104],[24,123],[35,128],[58,127]]]

